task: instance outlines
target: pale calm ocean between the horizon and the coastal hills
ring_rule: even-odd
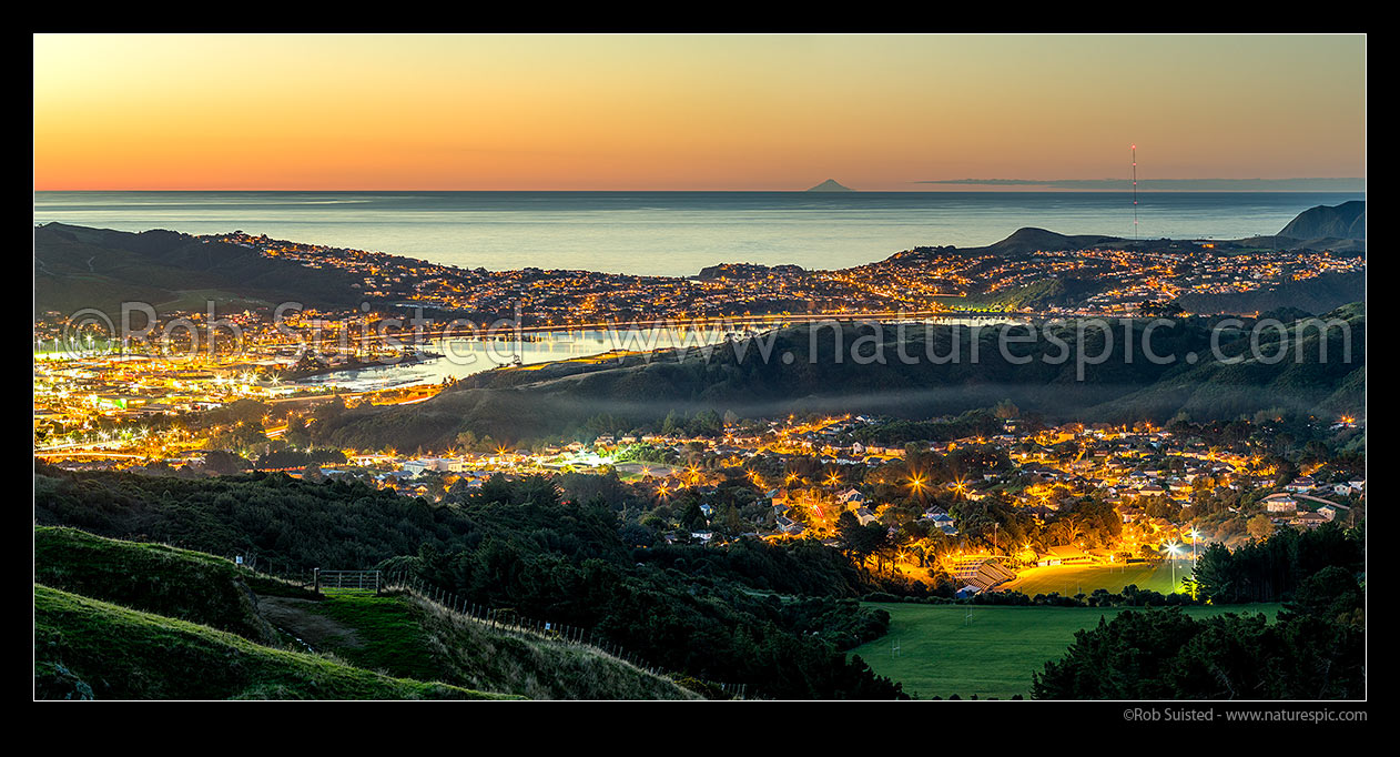
[[[1354,192],[1140,192],[1144,238],[1277,234]],[[35,192],[35,223],[273,238],[462,268],[693,276],[720,262],[836,269],[1023,226],[1133,236],[1128,192]]]

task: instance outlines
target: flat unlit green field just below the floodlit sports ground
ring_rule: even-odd
[[[854,649],[875,673],[920,698],[1030,695],[1030,674],[1058,659],[1074,632],[1121,610],[872,603],[890,615],[889,634]],[[972,617],[967,618],[969,610]],[[1277,604],[1187,607],[1193,617],[1267,613]],[[897,648],[897,655],[896,655]]]

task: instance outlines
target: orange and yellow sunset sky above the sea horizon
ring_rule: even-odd
[[[1134,143],[1145,185],[1365,177],[1365,42],[35,35],[34,184],[966,191],[927,182],[1127,178]]]

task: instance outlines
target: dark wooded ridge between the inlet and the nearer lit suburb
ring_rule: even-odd
[[[1338,348],[1326,366],[1317,364],[1313,349],[1303,350],[1302,363],[1289,352],[1285,360],[1247,370],[1215,364],[1210,324],[1201,318],[1152,329],[1152,353],[1172,356],[1169,363],[1145,357],[1147,320],[1133,321],[1131,360],[1121,324],[1113,325],[1107,350],[1103,331],[1093,327],[1086,327],[1082,349],[1075,350],[1075,324],[1037,328],[1030,341],[1021,325],[983,328],[976,339],[972,329],[949,325],[813,325],[720,345],[708,359],[700,350],[683,357],[662,352],[651,362],[493,370],[419,405],[328,414],[316,428],[326,444],[442,449],[468,430],[518,442],[573,433],[601,415],[641,428],[672,411],[704,409],[750,418],[790,412],[930,418],[1009,398],[1053,419],[1165,421],[1183,409],[1233,418],[1281,405],[1310,408],[1352,381],[1350,374],[1365,364],[1365,311],[1357,304],[1334,315],[1352,332],[1350,363],[1338,362]],[[998,348],[1004,336],[1005,355]],[[1222,345],[1229,349],[1249,343],[1247,332],[1226,336]],[[770,359],[763,360],[766,342]],[[952,362],[955,352],[959,360]],[[1198,363],[1189,362],[1191,353]],[[1305,374],[1306,381],[1294,380]],[[1232,397],[1228,402],[1203,402],[1225,394]]]

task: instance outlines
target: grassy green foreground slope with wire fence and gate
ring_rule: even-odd
[[[414,594],[322,599],[224,558],[76,528],[35,528],[35,582],[38,698],[701,698]]]

